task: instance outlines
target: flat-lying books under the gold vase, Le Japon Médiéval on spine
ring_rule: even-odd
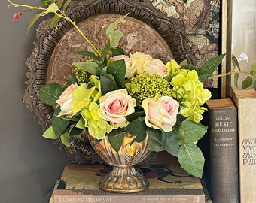
[[[200,178],[187,174],[177,164],[138,165],[147,177],[149,188],[143,192],[117,194],[99,189],[102,177],[111,170],[106,165],[68,165],[56,183],[50,203],[61,202],[172,202],[205,203]],[[207,190],[206,190],[206,194]]]

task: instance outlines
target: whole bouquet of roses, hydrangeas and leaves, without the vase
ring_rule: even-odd
[[[53,13],[51,26],[61,18],[68,20],[94,50],[94,53],[76,52],[90,59],[72,64],[74,74],[64,86],[50,83],[41,87],[41,101],[55,107],[52,126],[44,132],[45,138],[60,138],[69,147],[69,139],[82,140],[81,132],[86,129],[97,142],[108,136],[111,146],[118,151],[124,132],[136,135],[136,142],[148,136],[149,150],[166,150],[178,156],[182,168],[202,177],[204,157],[197,141],[207,130],[200,120],[206,111],[203,105],[211,98],[203,82],[215,71],[224,55],[196,68],[185,62],[178,65],[174,59],[165,64],[145,53],[126,53],[117,46],[123,34],[116,30],[124,17],[108,26],[108,42],[99,50],[66,16],[70,0],[43,0],[47,8],[8,1],[14,7],[24,8],[14,14],[14,20],[27,10],[41,11],[30,20],[30,28],[38,17]]]

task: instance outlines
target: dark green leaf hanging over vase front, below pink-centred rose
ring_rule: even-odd
[[[120,150],[120,147],[123,144],[124,139],[124,129],[118,128],[113,129],[109,135],[108,135],[108,141],[111,144],[111,147],[118,152]]]

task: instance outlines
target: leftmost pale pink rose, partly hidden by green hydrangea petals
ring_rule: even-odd
[[[68,86],[64,92],[62,92],[62,95],[59,96],[59,99],[56,100],[56,103],[59,104],[61,111],[59,112],[59,117],[62,115],[67,115],[68,117],[72,117],[75,112],[72,110],[72,93],[74,89],[78,85],[72,84]]]

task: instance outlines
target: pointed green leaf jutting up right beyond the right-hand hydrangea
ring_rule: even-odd
[[[212,73],[218,68],[218,65],[221,64],[224,56],[225,54],[221,54],[213,59],[209,59],[197,69],[198,77],[201,82],[206,81],[212,75]]]

